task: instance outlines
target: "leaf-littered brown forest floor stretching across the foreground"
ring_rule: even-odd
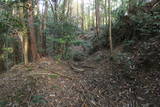
[[[159,107],[159,77],[126,81],[111,65],[105,50],[81,62],[16,65],[0,75],[0,107]]]

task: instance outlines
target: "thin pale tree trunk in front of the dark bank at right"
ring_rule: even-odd
[[[109,15],[109,42],[110,42],[110,52],[112,56],[113,46],[112,46],[112,18],[111,18],[111,0],[108,0],[108,15]]]

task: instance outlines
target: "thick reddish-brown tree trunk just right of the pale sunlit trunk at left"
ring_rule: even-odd
[[[35,29],[34,29],[34,18],[33,18],[33,5],[32,0],[28,0],[28,26],[29,26],[29,36],[31,40],[31,52],[33,61],[38,59],[38,52],[36,47]]]

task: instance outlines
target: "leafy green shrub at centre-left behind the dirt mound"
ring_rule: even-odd
[[[69,47],[80,44],[76,41],[78,28],[69,21],[48,23],[47,47],[53,45],[54,56],[60,56],[60,59],[69,59]],[[50,50],[50,49],[48,49]]]

